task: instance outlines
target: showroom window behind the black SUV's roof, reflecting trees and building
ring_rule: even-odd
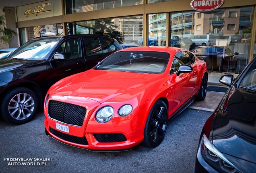
[[[141,46],[142,30],[142,16],[67,23],[68,34],[107,35],[115,38],[123,48]]]

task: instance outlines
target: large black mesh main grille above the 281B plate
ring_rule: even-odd
[[[50,100],[48,113],[52,119],[70,125],[82,126],[85,119],[86,108],[70,103]]]

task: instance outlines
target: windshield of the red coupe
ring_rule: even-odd
[[[108,56],[94,69],[159,74],[165,71],[169,53],[122,51]]]

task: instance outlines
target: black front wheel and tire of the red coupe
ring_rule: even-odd
[[[150,148],[157,147],[165,137],[167,121],[167,106],[162,100],[158,100],[147,118],[142,145]]]

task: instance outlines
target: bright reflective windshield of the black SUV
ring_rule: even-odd
[[[18,48],[16,52],[8,58],[11,59],[27,59],[27,60],[42,60],[57,44],[58,39],[38,39],[31,40]]]

